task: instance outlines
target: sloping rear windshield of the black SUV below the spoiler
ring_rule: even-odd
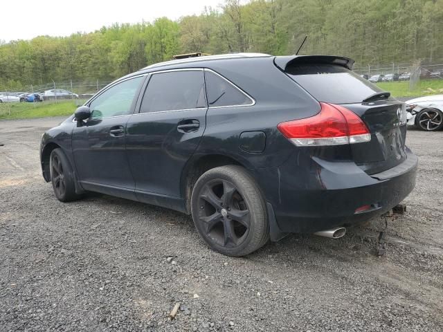
[[[383,91],[363,77],[336,64],[300,64],[286,73],[319,102],[352,104]]]

